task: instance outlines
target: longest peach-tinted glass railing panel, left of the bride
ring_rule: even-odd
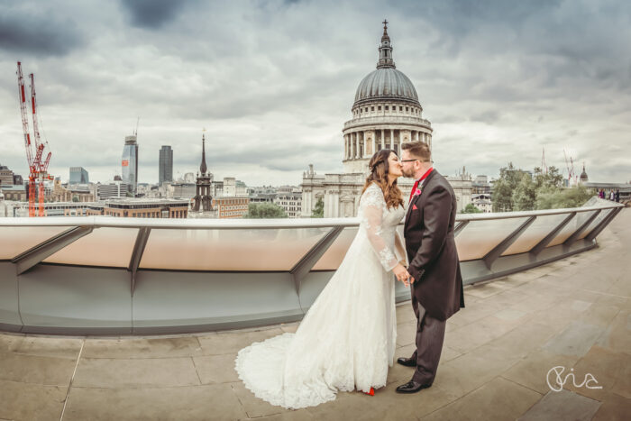
[[[291,270],[331,228],[152,229],[141,268]]]

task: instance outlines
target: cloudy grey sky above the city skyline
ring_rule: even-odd
[[[631,180],[631,4],[566,1],[0,0],[0,164],[27,176],[16,61],[34,72],[50,173],[120,174],[140,116],[140,182],[196,171],[300,183],[341,172],[343,123],[389,20],[444,174],[533,169],[563,150],[591,180]]]

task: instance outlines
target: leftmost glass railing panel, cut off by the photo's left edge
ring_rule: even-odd
[[[13,259],[72,226],[0,226],[0,259]]]

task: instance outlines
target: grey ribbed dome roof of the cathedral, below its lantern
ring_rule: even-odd
[[[352,106],[392,99],[420,106],[416,89],[403,72],[394,67],[378,68],[361,80]]]

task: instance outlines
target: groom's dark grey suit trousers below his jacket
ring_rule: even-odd
[[[412,286],[414,288],[414,286]],[[412,307],[416,315],[416,351],[411,359],[416,360],[416,371],[412,380],[431,385],[436,377],[438,362],[441,359],[446,320],[429,316],[425,307],[416,300],[412,291]]]

